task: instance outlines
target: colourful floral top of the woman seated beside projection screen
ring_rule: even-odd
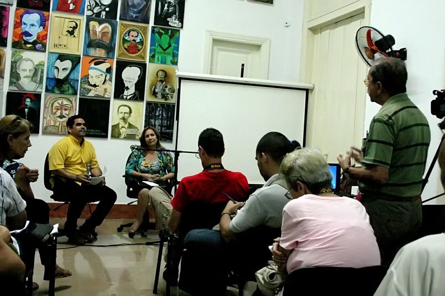
[[[168,173],[175,172],[173,157],[170,152],[158,151],[158,158],[153,162],[147,162],[141,150],[134,150],[125,167],[125,174],[131,175],[133,171],[143,174],[159,174],[164,177]]]

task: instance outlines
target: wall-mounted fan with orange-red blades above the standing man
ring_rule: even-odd
[[[373,27],[364,26],[357,30],[356,47],[363,61],[372,66],[375,60],[382,57],[399,58],[406,60],[406,48],[393,50],[394,37],[383,35],[382,32]]]

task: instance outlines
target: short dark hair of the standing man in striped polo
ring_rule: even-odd
[[[398,58],[377,59],[371,71],[372,82],[380,81],[391,96],[406,92],[408,73],[405,64]]]

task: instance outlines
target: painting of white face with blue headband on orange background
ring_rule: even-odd
[[[82,58],[80,96],[111,98],[113,59]]]

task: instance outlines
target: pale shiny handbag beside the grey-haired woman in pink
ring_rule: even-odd
[[[267,261],[267,266],[255,272],[258,288],[264,296],[276,295],[283,288],[286,276],[278,271],[278,266],[272,260]]]

